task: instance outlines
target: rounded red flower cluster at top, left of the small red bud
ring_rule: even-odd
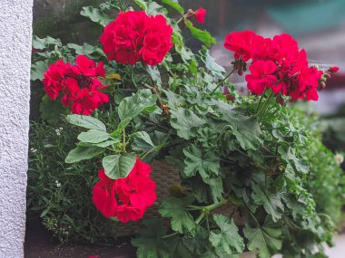
[[[155,65],[163,61],[173,46],[173,28],[163,15],[148,16],[141,11],[120,13],[107,24],[100,41],[108,60],[133,65]]]

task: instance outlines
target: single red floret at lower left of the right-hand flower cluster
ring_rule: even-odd
[[[272,61],[256,61],[249,67],[251,74],[245,76],[248,81],[248,89],[255,94],[261,94],[266,88],[271,88],[271,85],[277,81],[275,75],[277,65]]]

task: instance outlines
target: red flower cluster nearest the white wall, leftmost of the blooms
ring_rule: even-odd
[[[51,100],[62,93],[64,107],[71,106],[74,114],[90,115],[109,101],[97,76],[105,76],[103,62],[96,65],[84,55],[76,57],[75,65],[59,60],[44,73],[44,90]]]

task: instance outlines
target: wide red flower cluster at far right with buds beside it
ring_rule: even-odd
[[[253,93],[271,89],[276,95],[287,95],[292,100],[319,99],[317,88],[323,72],[309,66],[306,52],[299,49],[291,35],[271,39],[251,31],[230,33],[224,47],[234,52],[235,68],[240,71],[245,71],[245,62],[251,59],[251,74],[245,79]]]

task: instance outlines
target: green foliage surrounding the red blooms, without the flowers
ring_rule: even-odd
[[[170,9],[151,0],[134,2],[147,14],[184,13],[177,1],[163,1]],[[123,10],[120,5],[107,6]],[[100,11],[91,8],[84,8],[83,14],[100,24],[113,19],[105,13],[100,19]],[[212,36],[184,15],[179,21],[169,17],[167,21],[173,26],[173,50],[154,67],[107,62],[98,46],[34,39],[41,52],[34,56],[33,79],[39,80],[38,73],[44,72],[37,62],[50,64],[58,58],[73,62],[82,51],[104,61],[107,74],[120,77],[104,78],[109,105],[92,117],[68,115],[66,120],[73,126],[64,124],[68,132],[62,136],[50,134],[52,127],[44,122],[34,125],[31,142],[37,151],[30,165],[29,205],[44,209],[42,216],[59,222],[66,211],[73,214],[70,217],[83,217],[76,207],[65,206],[83,204],[80,209],[90,211],[86,225],[97,229],[87,232],[84,227],[75,239],[87,232],[86,239],[94,241],[90,235],[111,228],[90,204],[94,171],[104,167],[108,177],[117,179],[127,177],[135,157],[148,163],[165,159],[179,170],[181,182],[176,183],[182,190],[159,196],[159,213],[171,219],[171,227],[160,219],[143,221],[132,241],[139,258],[237,257],[245,249],[259,257],[321,255],[321,244],[331,242],[331,218],[337,219],[344,203],[340,195],[344,179],[332,154],[315,138],[311,123],[303,125],[305,116],[272,100],[270,90],[250,97],[232,92],[235,100],[227,100],[219,89],[233,87],[210,57],[207,47],[214,43]],[[205,45],[198,53],[185,44],[180,23]],[[46,144],[51,148],[45,151]],[[67,149],[72,149],[68,155]],[[325,180],[329,174],[334,177]],[[54,178],[65,182],[62,190],[54,188]],[[55,190],[68,201],[52,206]],[[76,190],[83,192],[72,201],[69,191]],[[226,205],[232,207],[233,217],[222,215],[220,208]],[[242,221],[234,214],[241,214]]]

